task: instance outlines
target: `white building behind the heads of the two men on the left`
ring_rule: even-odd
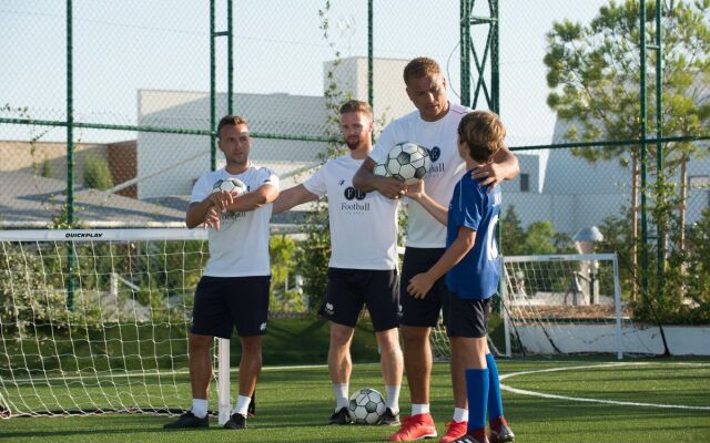
[[[376,59],[374,110],[386,122],[414,110],[406,96],[402,72],[407,60]],[[324,82],[332,62],[324,64]],[[333,71],[338,90],[367,101],[367,59],[348,58]],[[326,133],[327,111],[323,96],[290,94],[234,95],[234,113],[244,116],[252,133],[307,135]],[[226,94],[217,94],[217,119],[227,109]],[[186,91],[139,91],[139,124],[155,127],[210,128],[210,93]],[[138,136],[138,197],[161,198],[190,194],[193,182],[210,168],[207,136],[141,132]],[[267,166],[293,183],[292,174],[320,164],[325,143],[257,137],[251,159]],[[217,166],[223,156],[217,150]]]

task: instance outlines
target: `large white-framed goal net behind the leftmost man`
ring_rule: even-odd
[[[202,229],[0,231],[0,415],[187,406],[205,238]],[[215,364],[229,371],[225,342]],[[226,413],[221,380],[211,396]]]

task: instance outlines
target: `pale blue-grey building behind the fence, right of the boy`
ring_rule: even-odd
[[[554,140],[564,140],[567,127],[558,122]],[[549,220],[556,231],[574,235],[608,216],[620,216],[631,206],[631,165],[622,166],[617,158],[591,163],[567,148],[521,151],[516,155],[520,176],[503,185],[503,199],[504,207],[515,206],[524,226]],[[687,223],[691,224],[710,207],[710,156],[692,158],[688,177]],[[678,183],[679,177],[676,174],[667,179]],[[650,174],[648,181],[653,183]]]

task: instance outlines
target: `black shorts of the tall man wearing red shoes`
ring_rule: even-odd
[[[436,280],[429,292],[423,299],[416,299],[407,292],[409,280],[417,274],[426,272],[444,255],[444,248],[412,248],[404,251],[402,266],[402,282],[399,293],[402,318],[404,326],[435,327],[442,312],[442,302],[448,297],[448,288],[444,277]],[[445,312],[446,317],[446,312]]]

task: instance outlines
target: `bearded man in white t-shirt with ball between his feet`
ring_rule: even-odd
[[[347,424],[349,347],[363,305],[373,320],[385,380],[386,410],[381,423],[399,424],[403,357],[397,333],[397,200],[353,187],[353,174],[372,151],[373,113],[365,102],[341,106],[341,127],[349,153],[328,161],[311,178],[281,193],[274,214],[327,196],[331,261],[320,313],[331,322],[328,371],[335,412],[328,424]]]

